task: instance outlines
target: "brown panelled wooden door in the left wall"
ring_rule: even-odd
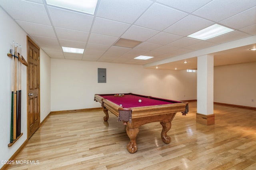
[[[28,138],[40,125],[40,48],[29,37],[28,47]]]

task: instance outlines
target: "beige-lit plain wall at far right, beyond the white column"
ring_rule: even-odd
[[[256,62],[214,67],[214,102],[256,107]]]

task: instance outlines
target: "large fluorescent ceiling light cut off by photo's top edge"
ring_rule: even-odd
[[[98,0],[46,0],[47,4],[70,10],[94,14]]]

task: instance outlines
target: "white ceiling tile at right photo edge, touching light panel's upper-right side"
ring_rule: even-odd
[[[256,0],[255,0],[256,1]],[[246,18],[246,20],[244,20]],[[220,22],[231,28],[241,29],[244,27],[251,26],[256,22],[256,6],[239,14],[236,14],[226,20]]]

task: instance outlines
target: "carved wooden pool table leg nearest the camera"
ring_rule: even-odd
[[[136,137],[139,132],[139,128],[129,128],[128,125],[126,125],[126,133],[130,138],[130,142],[127,145],[127,150],[133,154],[137,151],[137,144],[136,144]]]

